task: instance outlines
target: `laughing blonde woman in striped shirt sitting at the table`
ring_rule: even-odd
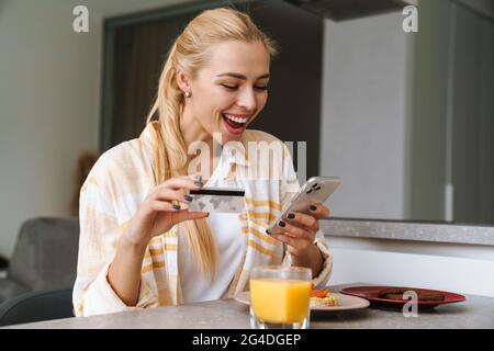
[[[284,235],[265,233],[299,189],[288,148],[262,169],[267,178],[252,179],[242,174],[258,165],[254,156],[227,147],[280,144],[246,131],[266,104],[273,54],[250,18],[231,9],[201,13],[176,39],[146,128],[104,152],[81,189],[77,316],[231,297],[259,264],[308,267],[315,285],[327,282],[317,220],[327,207],[281,220]],[[198,143],[212,174],[190,172]],[[221,152],[209,151],[217,143]],[[245,212],[189,212],[189,192],[203,186],[244,189]]]

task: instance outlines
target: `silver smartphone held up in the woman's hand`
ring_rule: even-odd
[[[279,220],[285,220],[289,212],[300,212],[310,214],[310,207],[314,203],[324,203],[341,183],[338,177],[313,177],[305,182],[299,193],[296,193],[283,210],[279,218],[266,230],[267,234],[283,234],[278,227]],[[290,219],[289,219],[290,220]]]

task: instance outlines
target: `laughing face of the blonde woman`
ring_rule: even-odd
[[[186,128],[193,125],[222,144],[238,140],[265,107],[268,99],[269,54],[260,42],[224,42],[209,48],[206,61],[194,79],[178,76],[186,99]],[[187,131],[182,131],[187,132]]]

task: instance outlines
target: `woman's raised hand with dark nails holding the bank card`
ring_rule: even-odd
[[[189,212],[177,206],[177,203],[189,204],[191,197],[186,197],[189,196],[189,191],[202,186],[200,176],[170,178],[157,185],[131,219],[124,234],[126,239],[135,245],[147,246],[153,237],[170,230],[180,222],[207,217],[207,212]]]

